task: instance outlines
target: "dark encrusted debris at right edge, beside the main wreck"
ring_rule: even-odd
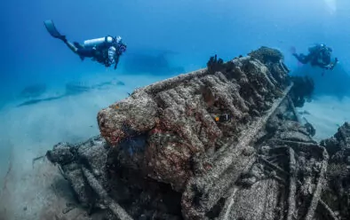
[[[345,122],[321,145],[330,153],[327,185],[322,199],[339,219],[350,219],[350,124]]]

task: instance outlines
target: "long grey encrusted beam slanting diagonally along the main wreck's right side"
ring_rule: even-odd
[[[250,128],[243,132],[238,138],[238,144],[227,144],[223,148],[213,161],[212,168],[203,177],[193,177],[188,181],[182,200],[183,206],[187,209],[185,216],[188,219],[203,219],[206,212],[235,184],[241,173],[251,168],[255,162],[256,154],[249,145],[256,141],[259,130],[265,126],[268,118],[286,98],[291,87],[292,84],[283,91],[282,98],[277,99],[263,117],[253,122]],[[239,161],[239,163],[235,161]],[[195,199],[195,197],[199,198]],[[193,204],[194,200],[196,200],[197,205]]]

